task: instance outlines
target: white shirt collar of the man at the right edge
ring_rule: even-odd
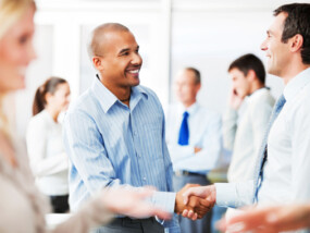
[[[286,101],[293,99],[307,84],[310,83],[310,68],[297,74],[283,90]]]

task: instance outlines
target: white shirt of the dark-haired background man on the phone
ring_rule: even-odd
[[[240,119],[237,111],[232,108],[224,114],[224,147],[233,150],[227,173],[228,182],[252,180],[273,105],[274,98],[270,90],[261,88],[246,99],[246,108]]]

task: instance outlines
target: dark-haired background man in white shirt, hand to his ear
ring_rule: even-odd
[[[223,118],[224,147],[233,151],[228,182],[251,180],[261,142],[268,126],[274,98],[265,87],[263,63],[253,54],[245,54],[228,68],[232,90]],[[245,103],[241,115],[238,109]]]

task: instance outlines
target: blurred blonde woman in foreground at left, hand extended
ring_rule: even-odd
[[[25,86],[25,68],[36,57],[33,49],[33,0],[0,0],[0,99]],[[38,189],[28,160],[12,138],[0,101],[0,232],[48,232],[45,213],[49,204]],[[87,232],[96,224],[107,223],[111,212],[135,218],[163,212],[144,201],[150,191],[141,193],[125,188],[102,191],[78,212],[52,232]]]

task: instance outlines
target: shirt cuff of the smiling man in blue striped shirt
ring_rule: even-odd
[[[175,196],[176,193],[156,192],[151,201],[159,208],[162,208],[170,213],[174,213]]]

